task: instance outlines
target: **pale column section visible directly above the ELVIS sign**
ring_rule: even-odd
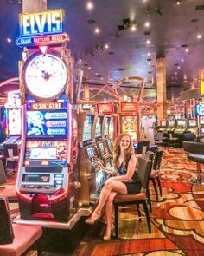
[[[47,0],[22,0],[22,13],[34,13],[47,10]]]

